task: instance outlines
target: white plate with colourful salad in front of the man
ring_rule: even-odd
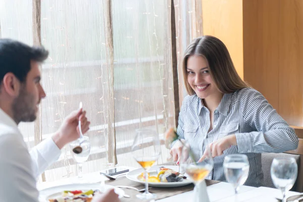
[[[115,188],[119,198],[124,196],[121,188],[111,185],[102,186],[99,183],[67,184],[40,190],[39,201],[41,202],[90,202],[94,194]]]

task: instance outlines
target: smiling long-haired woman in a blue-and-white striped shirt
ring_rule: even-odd
[[[214,169],[207,179],[226,181],[224,157],[245,154],[250,171],[245,185],[262,186],[261,153],[282,153],[297,148],[294,130],[265,97],[238,76],[224,43],[213,36],[194,39],[183,59],[188,95],[179,114],[177,133],[199,155],[199,142],[208,139]],[[175,141],[174,161],[182,150]]]

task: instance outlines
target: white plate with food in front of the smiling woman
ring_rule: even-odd
[[[193,181],[186,174],[177,172],[178,166],[153,166],[148,171],[148,185],[154,187],[185,186]],[[145,183],[145,171],[142,168],[130,171],[126,177],[132,181]]]

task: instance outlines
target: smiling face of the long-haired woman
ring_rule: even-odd
[[[201,99],[220,92],[209,73],[208,62],[204,57],[190,56],[187,59],[186,71],[187,82]]]

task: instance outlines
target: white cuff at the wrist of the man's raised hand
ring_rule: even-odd
[[[61,150],[52,137],[48,137],[36,146],[40,155],[46,162],[55,162],[59,159]]]

